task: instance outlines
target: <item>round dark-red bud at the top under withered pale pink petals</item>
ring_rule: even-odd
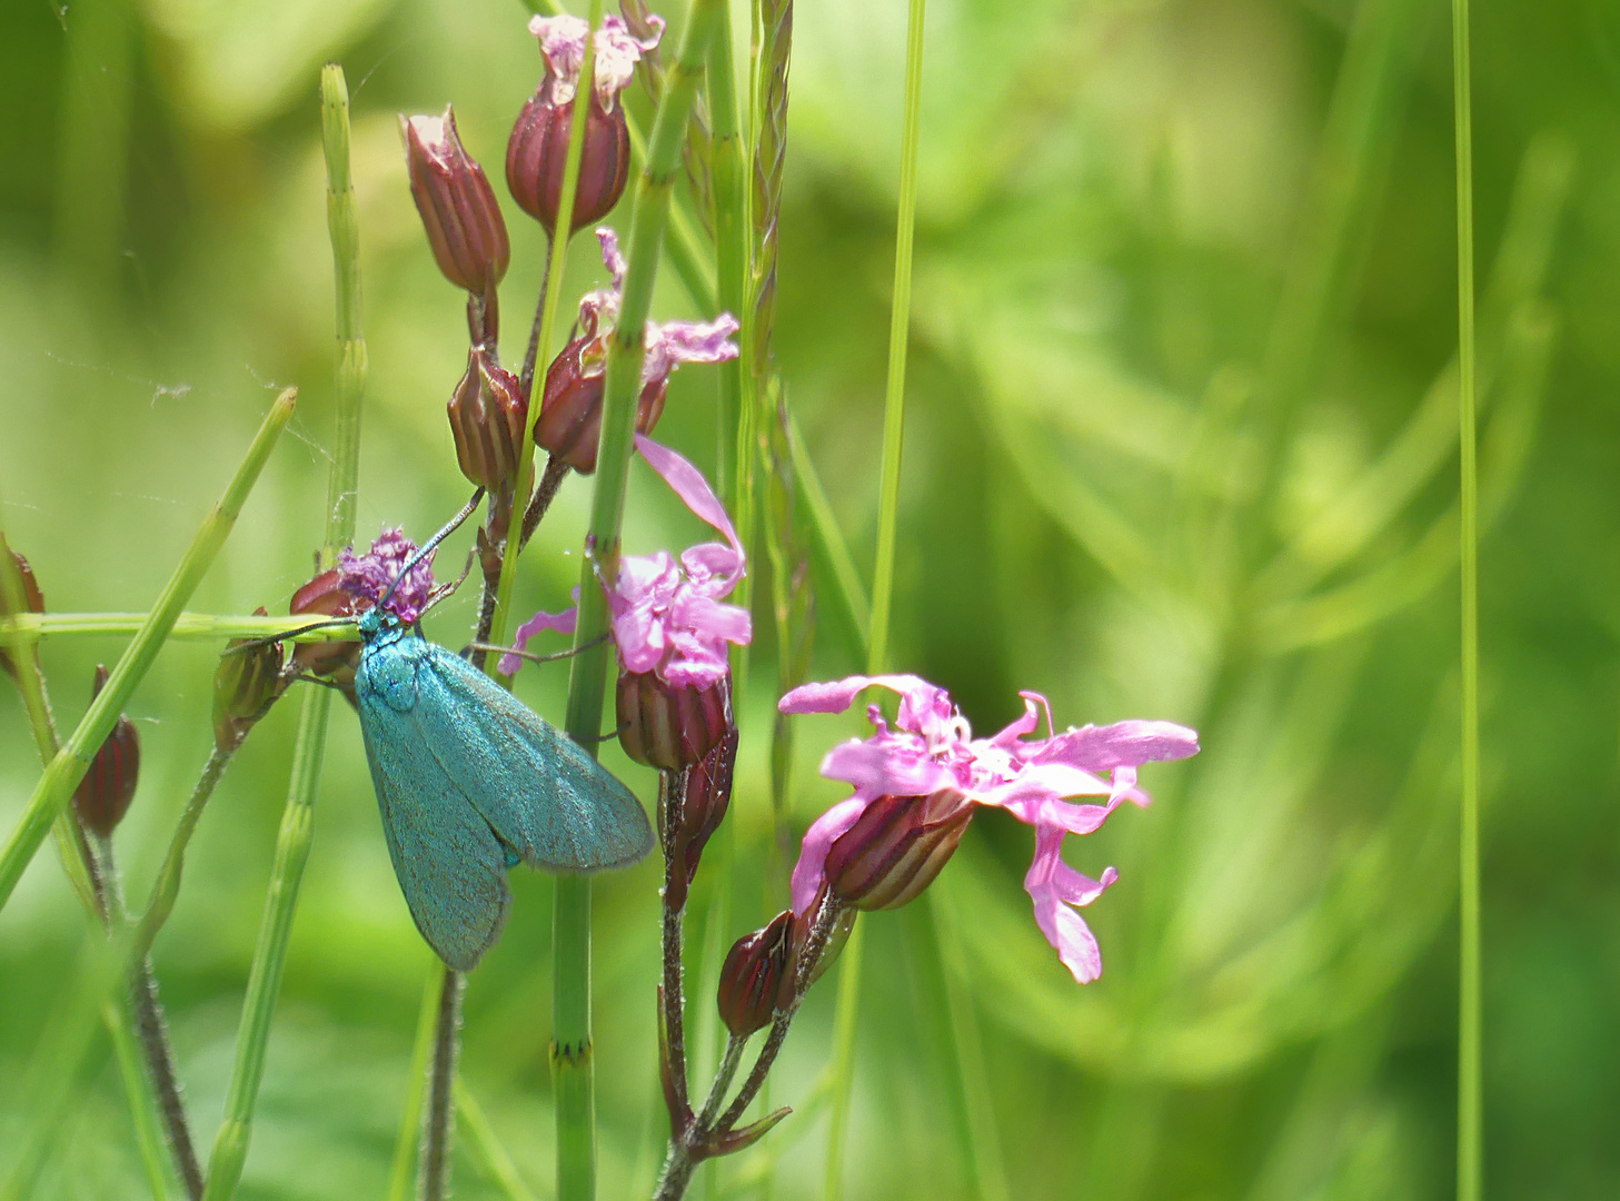
[[[573,100],[552,99],[548,71],[539,89],[523,105],[507,141],[507,186],[512,199],[528,216],[557,235],[557,207],[562,204],[562,167],[573,128]],[[573,224],[569,233],[601,220],[624,194],[630,180],[630,130],[617,96],[611,109],[593,100],[585,117],[585,151],[580,182],[573,193]]]

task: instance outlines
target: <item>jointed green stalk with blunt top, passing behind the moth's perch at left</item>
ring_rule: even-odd
[[[355,491],[360,480],[360,412],[366,391],[366,342],[360,321],[360,225],[355,188],[348,175],[348,84],[343,68],[327,63],[321,70],[321,135],[326,149],[327,227],[337,301],[337,418],[335,452],[327,477],[326,541],[319,566],[330,567],[337,553],[355,538]],[[314,797],[326,757],[327,713],[332,690],[305,692],[293,741],[293,770],[287,783],[287,806],[275,836],[275,861],[264,895],[264,917],[253,948],[253,968],[237,1029],[237,1058],[225,1092],[225,1117],[214,1136],[209,1159],[206,1201],[225,1201],[237,1191],[253,1138],[253,1112],[264,1078],[271,1016],[287,963],[287,940],[298,909],[298,888],[314,836]]]

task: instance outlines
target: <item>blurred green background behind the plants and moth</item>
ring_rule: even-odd
[[[371,352],[360,528],[421,536],[455,509],[467,486],[444,400],[463,366],[462,303],[421,238],[394,115],[454,100],[504,194],[505,133],[539,75],[523,21],[515,0],[6,0],[0,524],[52,609],[149,605],[290,383],[296,438],[191,608],[284,611],[308,577],[332,407],[327,58],[355,96]],[[776,345],[863,569],[904,21],[899,0],[800,5],[792,66]],[[742,42],[742,5],[737,29]],[[927,31],[894,663],[949,687],[980,731],[1038,689],[1059,724],[1166,718],[1197,726],[1205,749],[1144,771],[1153,809],[1071,844],[1082,870],[1121,872],[1087,911],[1097,984],[1074,985],[1035,930],[1030,835],[996,814],[974,823],[933,904],[863,919],[849,1196],[977,1195],[970,1126],[991,1191],[1000,1175],[1013,1198],[1445,1196],[1458,793],[1445,6],[933,0]],[[1620,5],[1481,5],[1474,52],[1487,1191],[1610,1198]],[[541,233],[507,211],[512,357]],[[601,280],[590,238],[573,251],[567,295]],[[690,313],[667,271],[654,311]],[[688,368],[659,430],[706,467],[713,405],[713,373]],[[698,540],[635,470],[630,549]],[[567,603],[586,504],[572,481],[525,559],[525,606]],[[470,593],[429,632],[465,637]],[[706,948],[693,1010],[710,1057],[714,960],[781,888],[766,854],[768,609],[758,627],[732,843],[705,861],[690,927]],[[45,645],[60,720],[118,650]],[[118,846],[138,896],[211,746],[215,653],[170,645],[130,707],[144,767]],[[823,590],[816,674],[855,666]],[[526,699],[559,716],[565,673],[525,674]],[[37,762],[0,692],[10,828]],[[232,767],[157,945],[202,1146],[292,726],[279,707]],[[854,729],[799,726],[795,831],[839,797],[815,765]],[[612,755],[650,797],[650,773]],[[661,1149],[656,870],[596,893],[604,1198],[645,1196]],[[463,1066],[546,1196],[549,883],[518,872],[514,888],[468,990]],[[83,930],[42,854],[0,914],[0,1164],[32,1117],[19,1079]],[[340,707],[243,1196],[382,1195],[426,966]],[[812,995],[773,1078],[771,1102],[800,1113],[698,1195],[752,1196],[770,1172],[774,1196],[820,1195],[833,994]],[[970,1112],[954,1099],[959,1047],[987,1081]],[[97,1045],[40,1196],[139,1195],[133,1148]],[[457,1190],[496,1196],[465,1125]]]

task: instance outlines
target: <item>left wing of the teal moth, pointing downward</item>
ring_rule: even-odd
[[[400,713],[358,690],[360,729],[382,810],[389,859],[410,916],[428,945],[457,971],[471,971],[505,924],[505,849],[450,775],[418,720],[431,699]]]

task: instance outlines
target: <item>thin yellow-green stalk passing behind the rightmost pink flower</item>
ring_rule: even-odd
[[[906,131],[901,141],[901,194],[894,232],[894,298],[889,310],[889,374],[883,397],[883,489],[878,499],[878,559],[872,574],[867,674],[885,669],[894,598],[894,538],[901,494],[901,439],[906,433],[906,342],[910,332],[912,233],[917,224],[917,141],[922,125],[922,26],[925,0],[910,0],[906,24]],[[833,1117],[826,1146],[826,1198],[844,1195],[844,1136],[855,1076],[855,1019],[860,1010],[860,922],[849,932],[833,1011]]]

